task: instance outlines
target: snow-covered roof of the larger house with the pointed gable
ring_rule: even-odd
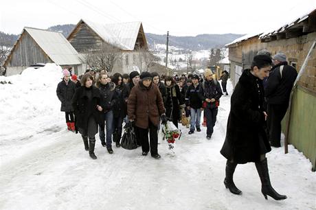
[[[86,23],[106,43],[110,43],[123,50],[133,50],[142,22],[102,24],[82,19],[79,23]],[[146,42],[146,40],[145,40]]]

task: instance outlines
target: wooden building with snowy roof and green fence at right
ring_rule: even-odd
[[[297,88],[293,92],[291,115],[284,117],[282,130],[287,141],[311,160],[315,170],[316,49],[312,46],[316,41],[316,8],[311,5],[302,6],[302,10],[295,8],[298,15],[292,21],[267,32],[247,34],[226,47],[229,49],[230,78],[233,86],[237,84],[242,69],[251,66],[253,57],[261,49],[267,49],[271,56],[278,51],[284,52],[289,65],[297,71],[302,71],[299,73]],[[307,57],[309,51],[311,54]],[[305,60],[306,65],[303,65]]]

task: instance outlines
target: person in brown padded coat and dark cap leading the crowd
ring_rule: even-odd
[[[138,130],[137,138],[139,138],[142,144],[142,155],[146,156],[149,152],[149,129],[150,154],[155,159],[159,159],[157,126],[160,116],[161,122],[166,123],[166,110],[163,107],[163,100],[159,88],[152,82],[153,78],[151,74],[144,71],[142,75],[140,75],[140,79],[128,97],[128,119],[132,123],[135,121],[135,126]]]

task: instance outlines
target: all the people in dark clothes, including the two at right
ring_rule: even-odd
[[[206,119],[206,138],[212,139],[220,98],[228,95],[229,73],[223,71],[221,84],[211,69],[200,75],[163,76],[156,72],[132,71],[129,75],[89,71],[80,81],[63,70],[58,84],[60,110],[65,112],[68,130],[80,132],[84,150],[95,156],[95,135],[102,146],[113,154],[112,142],[120,147],[125,123],[133,126],[142,155],[155,159],[158,153],[160,124],[172,121],[174,126],[190,119],[189,135],[201,132],[201,115]],[[267,152],[280,147],[281,121],[289,104],[289,96],[297,71],[288,65],[280,52],[273,58],[263,50],[253,58],[251,69],[244,69],[231,98],[226,138],[221,154],[227,159],[224,185],[233,194],[242,194],[233,180],[238,164],[256,163],[264,198],[286,199],[271,187]],[[70,79],[71,78],[71,79]],[[222,86],[221,86],[222,85]],[[223,87],[223,91],[222,91]],[[149,137],[149,138],[148,138]]]

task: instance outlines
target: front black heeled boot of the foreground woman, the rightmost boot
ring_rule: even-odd
[[[263,161],[256,163],[256,168],[257,168],[258,174],[260,176],[260,180],[261,180],[261,184],[262,184],[261,192],[262,192],[264,198],[266,198],[266,200],[268,200],[267,196],[270,196],[274,200],[286,199],[287,198],[286,196],[282,196],[282,195],[278,194],[271,186],[267,159],[264,159]]]

